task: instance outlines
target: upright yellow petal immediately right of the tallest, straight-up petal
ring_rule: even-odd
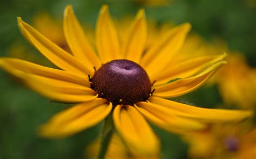
[[[145,47],[146,38],[147,24],[145,12],[141,9],[138,11],[131,25],[130,34],[124,50],[124,58],[139,63]]]

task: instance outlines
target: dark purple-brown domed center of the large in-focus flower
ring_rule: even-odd
[[[100,67],[90,78],[91,89],[113,105],[133,105],[147,100],[151,93],[146,71],[129,60],[113,60]]]

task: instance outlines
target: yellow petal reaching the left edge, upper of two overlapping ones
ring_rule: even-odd
[[[38,64],[19,59],[2,57],[0,58],[0,67],[3,67],[11,74],[14,73],[12,74],[14,76],[16,76],[16,71],[21,71],[25,74],[38,75],[90,87],[90,82],[85,76],[79,76],[67,71],[40,66]]]

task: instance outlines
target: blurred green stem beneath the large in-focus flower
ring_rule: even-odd
[[[114,131],[113,119],[112,119],[112,113],[110,113],[105,118],[104,127],[102,129],[102,140],[101,140],[99,156],[98,156],[99,159],[104,159],[107,153],[107,148],[109,147],[110,140],[112,138],[113,131]]]

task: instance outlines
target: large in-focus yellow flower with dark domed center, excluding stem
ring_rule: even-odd
[[[167,131],[181,133],[203,129],[211,122],[242,120],[252,114],[203,109],[164,99],[197,89],[226,63],[225,55],[215,55],[170,64],[183,46],[191,27],[188,23],[167,31],[144,53],[144,10],[138,11],[125,44],[119,45],[116,28],[104,5],[96,24],[97,54],[71,6],[65,10],[64,34],[72,54],[21,18],[18,25],[25,38],[60,69],[7,57],[1,58],[0,65],[46,97],[79,103],[43,125],[42,136],[59,138],[75,134],[113,112],[114,127],[129,151],[150,155],[156,153],[159,143],[146,119]]]

